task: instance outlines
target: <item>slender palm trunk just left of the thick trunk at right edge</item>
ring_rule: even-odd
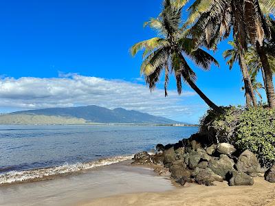
[[[253,106],[257,106],[257,100],[256,100],[256,96],[252,86],[250,73],[248,72],[248,67],[245,64],[245,58],[243,57],[242,52],[239,52],[239,53],[240,53],[239,56],[240,56],[241,72],[243,73],[243,82],[245,84],[246,106],[250,107],[251,102]]]

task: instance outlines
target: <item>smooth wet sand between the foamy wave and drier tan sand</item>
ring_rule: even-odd
[[[81,205],[107,196],[173,189],[170,179],[153,169],[124,161],[52,180],[1,186],[0,205]]]

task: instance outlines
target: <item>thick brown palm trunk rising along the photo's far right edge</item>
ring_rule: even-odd
[[[267,93],[267,102],[270,108],[275,108],[275,92],[270,63],[268,62],[267,55],[265,54],[263,46],[261,46],[259,42],[256,43],[256,49],[260,56],[263,65],[263,71],[265,73],[265,91]]]

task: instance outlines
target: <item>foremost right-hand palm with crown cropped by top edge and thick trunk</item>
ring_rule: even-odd
[[[248,44],[256,47],[265,72],[267,101],[275,108],[275,92],[272,71],[264,49],[266,41],[272,41],[269,14],[275,14],[274,0],[195,0],[188,9],[186,25],[192,25],[188,33],[197,43],[217,49],[221,38],[228,38],[231,30],[236,46],[243,51]],[[273,39],[274,41],[274,39]]]

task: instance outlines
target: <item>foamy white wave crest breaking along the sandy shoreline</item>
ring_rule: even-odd
[[[41,181],[45,179],[51,179],[54,176],[72,174],[74,172],[83,172],[85,170],[91,170],[92,168],[98,168],[104,165],[111,165],[120,161],[126,161],[133,156],[118,156],[99,159],[96,161],[90,161],[87,163],[65,164],[56,166],[53,168],[43,168],[37,170],[26,171],[12,171],[5,174],[0,174],[0,185],[8,185],[12,183]]]

